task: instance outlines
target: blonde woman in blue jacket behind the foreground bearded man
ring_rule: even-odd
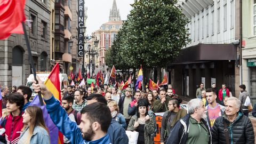
[[[108,107],[110,109],[112,118],[115,119],[115,121],[117,121],[119,124],[121,124],[124,129],[126,129],[125,118],[121,113],[119,113],[119,108],[116,101],[110,101],[108,103]]]

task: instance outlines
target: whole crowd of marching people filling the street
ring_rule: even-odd
[[[137,143],[154,143],[160,133],[164,143],[254,143],[253,126],[244,105],[249,96],[240,85],[239,98],[231,96],[225,84],[217,91],[215,84],[204,89],[201,83],[196,98],[187,109],[171,85],[150,91],[124,91],[114,85],[90,87],[69,85],[59,100],[38,78],[35,92],[44,95],[46,109],[64,143],[129,143],[125,131],[138,132]],[[3,116],[0,141],[3,143],[50,143],[43,112],[30,106],[32,91],[28,86],[2,86]],[[255,107],[254,107],[255,108]],[[155,113],[163,113],[161,126]],[[253,110],[256,116],[256,108]],[[159,128],[161,127],[161,128]]]

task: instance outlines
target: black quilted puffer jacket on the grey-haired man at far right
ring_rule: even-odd
[[[226,144],[223,121],[228,125],[229,143],[254,143],[252,123],[247,116],[242,114],[242,112],[238,112],[238,117],[233,123],[230,123],[227,120],[226,114],[215,120],[212,127],[212,143]]]

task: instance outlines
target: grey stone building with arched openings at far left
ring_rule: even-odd
[[[36,71],[50,70],[50,8],[51,1],[28,0],[25,5],[26,32]],[[32,73],[25,37],[12,34],[0,40],[0,79],[3,85],[26,84]]]

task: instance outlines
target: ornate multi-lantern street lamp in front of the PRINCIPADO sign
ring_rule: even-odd
[[[84,34],[85,33],[85,30],[86,30],[86,27],[85,26],[83,26],[82,27],[82,33]],[[78,39],[78,37],[77,36],[71,36],[70,37],[70,40],[68,41],[68,44],[69,44],[69,46],[70,47],[72,47],[73,46],[73,41],[71,40],[71,39],[73,39],[73,38],[75,38],[75,39]],[[95,41],[94,41],[94,45],[96,46],[96,47],[98,47],[98,44],[99,44],[99,40],[97,40],[97,37],[95,36],[95,35],[92,35],[92,36],[85,36],[84,37],[84,45],[87,43],[87,41],[89,41],[90,39],[92,39],[92,38],[95,38]],[[89,70],[90,70],[90,53],[91,53],[91,51],[89,50],[89,51],[85,51],[84,50],[84,52],[83,52],[83,64],[82,64],[82,75],[83,75],[83,77],[84,77],[84,72],[85,72],[85,70],[84,70],[84,53],[86,53],[86,52],[89,52]],[[94,51],[93,51],[94,52]],[[92,54],[91,54],[92,55]],[[95,55],[95,54],[94,54]]]

